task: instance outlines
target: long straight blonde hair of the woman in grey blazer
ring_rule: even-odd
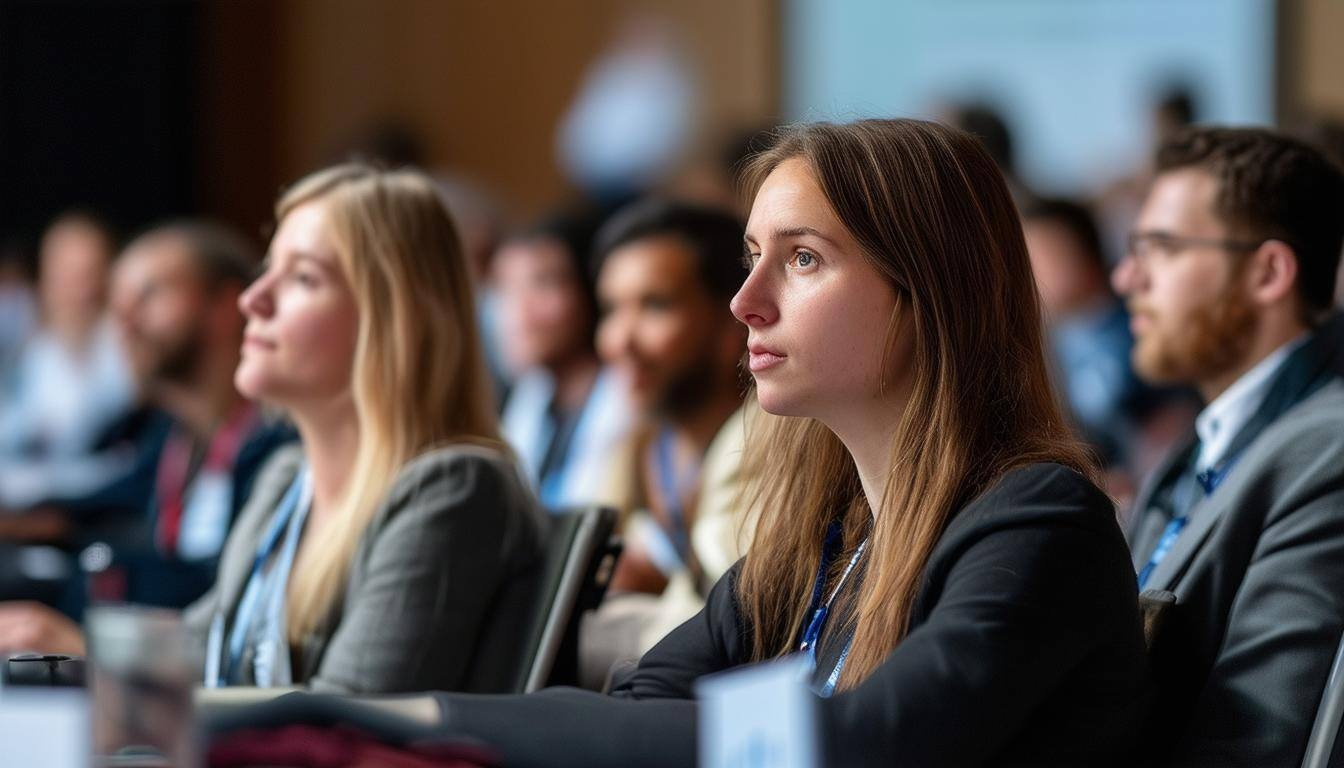
[[[281,196],[276,221],[308,203],[327,213],[359,308],[351,370],[359,448],[331,523],[290,578],[290,643],[331,615],[355,547],[402,467],[444,443],[503,449],[470,278],[430,179],[362,164],[327,168]]]

